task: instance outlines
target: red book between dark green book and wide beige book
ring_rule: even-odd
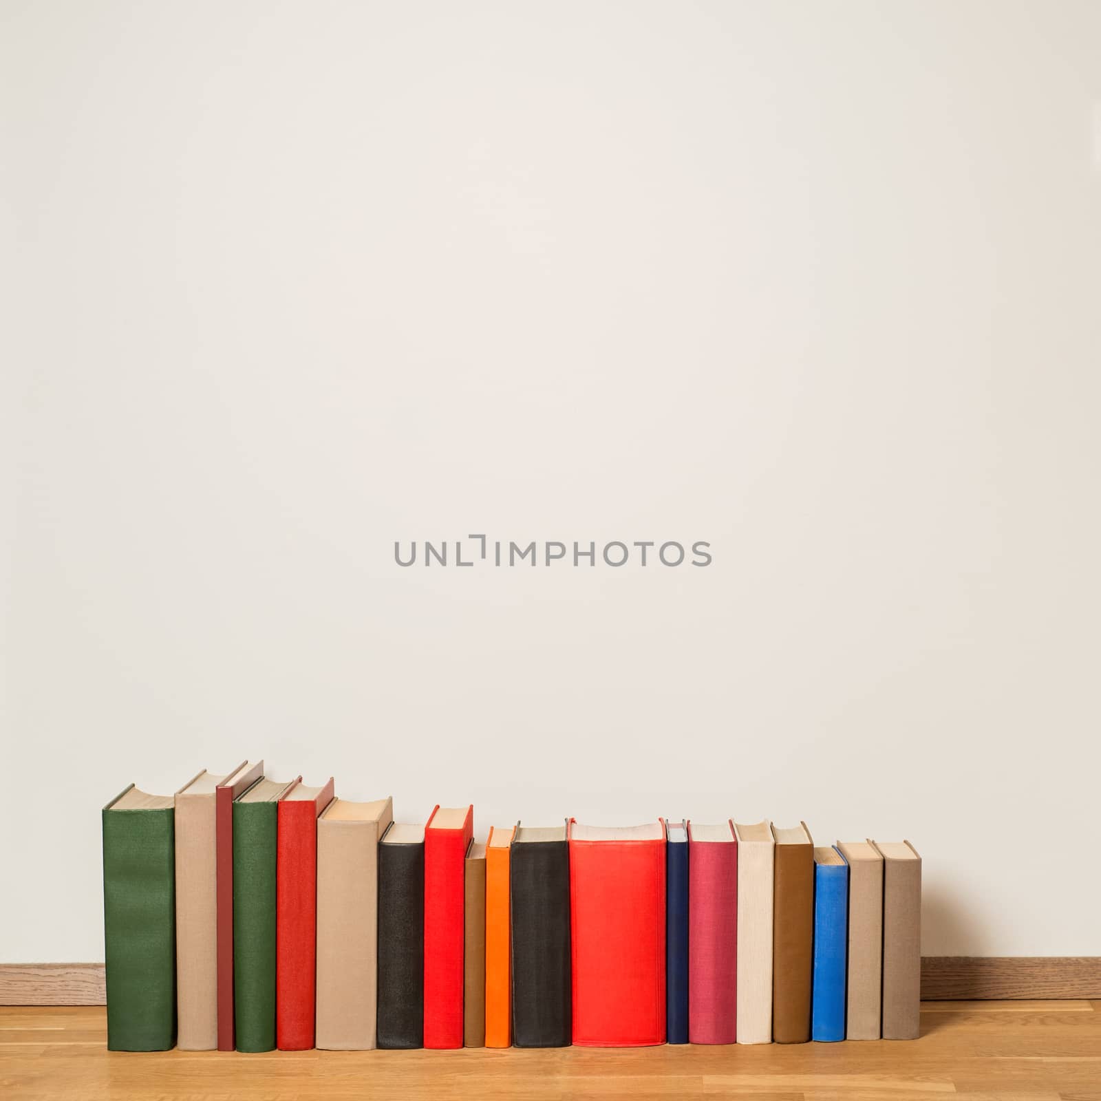
[[[275,842],[275,1046],[314,1046],[317,985],[317,817],[333,800],[324,787],[294,786],[279,800]]]

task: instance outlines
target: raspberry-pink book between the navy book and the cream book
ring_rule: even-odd
[[[688,1043],[733,1044],[738,1011],[734,826],[688,824]]]

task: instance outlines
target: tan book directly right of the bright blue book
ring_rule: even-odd
[[[838,841],[849,865],[846,1039],[879,1039],[883,973],[883,857],[868,841]]]

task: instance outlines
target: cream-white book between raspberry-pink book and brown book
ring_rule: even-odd
[[[772,1043],[772,900],[775,841],[765,819],[734,822],[738,838],[739,1044]]]

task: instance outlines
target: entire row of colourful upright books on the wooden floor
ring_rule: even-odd
[[[493,827],[264,775],[102,813],[115,1050],[918,1035],[922,862],[800,824]]]

